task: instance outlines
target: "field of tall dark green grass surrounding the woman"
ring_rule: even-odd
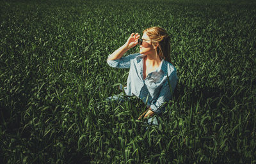
[[[0,6],[0,163],[256,163],[255,1]],[[142,101],[104,102],[129,72],[106,59],[152,26],[171,36],[179,82],[143,133]]]

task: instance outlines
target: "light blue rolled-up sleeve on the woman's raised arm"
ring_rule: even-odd
[[[109,56],[111,56],[111,54],[109,54]],[[138,54],[131,54],[129,56],[121,57],[120,59],[116,60],[107,59],[107,63],[113,68],[130,68],[131,60],[134,59],[136,56],[138,56]]]

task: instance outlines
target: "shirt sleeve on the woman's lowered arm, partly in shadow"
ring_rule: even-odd
[[[166,104],[164,103],[172,99],[172,94],[176,87],[177,80],[178,78],[176,71],[173,71],[169,76],[170,83],[166,78],[166,82],[164,82],[164,85],[159,93],[159,96],[157,97],[156,100],[153,100],[151,102],[150,108],[153,112],[156,112],[156,114],[161,114],[165,111]]]

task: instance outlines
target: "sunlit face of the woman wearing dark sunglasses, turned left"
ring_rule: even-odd
[[[142,44],[140,45],[140,54],[153,54],[155,52],[154,46],[152,45],[150,38],[146,33],[143,33],[143,36],[141,37]]]

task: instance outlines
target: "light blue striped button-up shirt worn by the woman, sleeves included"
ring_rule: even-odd
[[[125,94],[127,96],[137,96],[153,112],[161,114],[165,111],[166,103],[164,102],[171,100],[177,84],[176,68],[168,61],[162,60],[159,68],[148,73],[144,79],[144,57],[140,53],[130,54],[120,59],[107,60],[107,63],[113,68],[130,68],[127,86],[124,87]]]

